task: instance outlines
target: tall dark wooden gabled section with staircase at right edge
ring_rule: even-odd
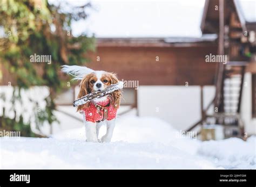
[[[205,2],[201,31],[218,34],[218,55],[226,55],[228,61],[218,64],[215,98],[211,103],[217,112],[208,115],[207,107],[202,111],[201,120],[189,130],[212,118],[214,124],[224,125],[226,131],[230,131],[229,136],[246,138],[245,123],[255,132],[256,22],[248,22],[244,13],[235,0]],[[251,102],[245,105],[243,115],[242,104],[246,100]]]

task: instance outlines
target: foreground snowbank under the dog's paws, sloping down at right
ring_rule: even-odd
[[[1,169],[214,169],[163,143],[92,143],[53,138],[1,139]]]

